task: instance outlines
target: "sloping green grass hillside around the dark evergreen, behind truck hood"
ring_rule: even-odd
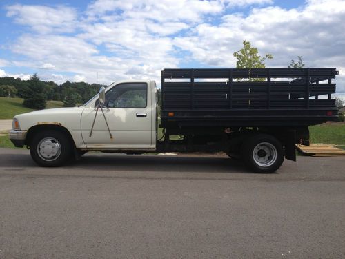
[[[63,102],[48,101],[46,105],[47,109],[59,107],[63,107]],[[0,119],[12,119],[14,115],[30,111],[34,110],[24,107],[23,99],[21,98],[0,97]]]

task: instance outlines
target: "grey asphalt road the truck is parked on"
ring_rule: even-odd
[[[0,149],[0,258],[345,258],[345,157],[298,160]]]

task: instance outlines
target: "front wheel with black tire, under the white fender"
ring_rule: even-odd
[[[39,166],[61,166],[72,158],[72,144],[61,131],[40,131],[32,139],[30,155]]]

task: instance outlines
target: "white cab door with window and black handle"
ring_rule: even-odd
[[[100,109],[90,137],[97,109],[85,108],[81,115],[81,134],[86,146],[100,149],[152,148],[152,106],[148,88],[146,82],[122,83],[106,91],[103,112],[112,138]]]

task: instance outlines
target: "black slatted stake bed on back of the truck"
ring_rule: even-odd
[[[164,128],[308,126],[336,120],[335,68],[161,71]]]

